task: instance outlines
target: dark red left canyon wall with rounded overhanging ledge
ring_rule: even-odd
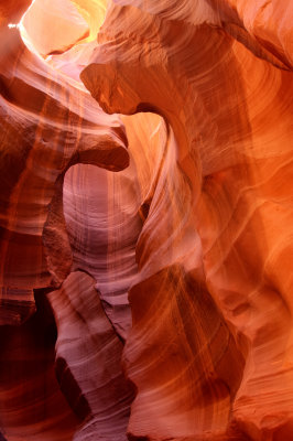
[[[4,325],[0,330],[0,426],[10,441],[67,441],[83,439],[84,434],[77,433],[86,430],[85,419],[89,415],[80,413],[73,405],[70,381],[66,387],[64,381],[59,386],[56,380],[59,358],[55,361],[55,325],[50,308],[45,306],[46,293],[61,286],[73,263],[63,211],[64,175],[77,163],[118,171],[128,165],[129,154],[121,121],[104,114],[80,83],[57,73],[31,53],[19,29],[8,26],[21,18],[13,6],[17,9],[12,3],[11,14],[1,22],[0,49],[0,320]],[[42,300],[36,301],[39,297]],[[45,326],[47,320],[53,325]],[[58,316],[56,322],[59,320]],[[119,343],[118,347],[111,346],[115,357],[107,365],[101,359],[100,369],[118,373],[123,379],[122,343],[115,331],[112,334]],[[93,352],[95,356],[95,347]],[[87,369],[86,364],[83,367]],[[108,377],[107,387],[113,390],[119,383],[117,375]],[[79,379],[74,381],[76,388],[80,388]],[[121,432],[117,440],[126,437],[128,419],[120,426],[119,419],[121,412],[129,412],[131,400],[131,389],[124,388],[130,390],[130,397],[121,404],[118,394],[118,408],[123,410],[116,415]]]

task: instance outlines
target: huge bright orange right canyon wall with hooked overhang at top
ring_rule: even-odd
[[[289,17],[292,3],[117,0],[82,73],[106,111],[170,125],[130,290],[135,437],[292,437]],[[225,330],[215,346],[207,323]]]

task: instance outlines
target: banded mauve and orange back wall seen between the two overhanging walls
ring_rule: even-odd
[[[67,171],[64,181],[73,269],[96,279],[105,311],[123,340],[131,326],[128,290],[138,273],[135,246],[144,220],[143,206],[148,206],[165,139],[164,125],[153,114],[124,118],[124,123],[130,154],[127,170],[112,173],[78,164]]]

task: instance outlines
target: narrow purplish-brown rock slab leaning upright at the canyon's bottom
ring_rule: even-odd
[[[126,440],[132,389],[120,367],[123,344],[104,312],[94,279],[73,272],[48,300],[58,331],[61,389],[86,419],[74,440]]]

